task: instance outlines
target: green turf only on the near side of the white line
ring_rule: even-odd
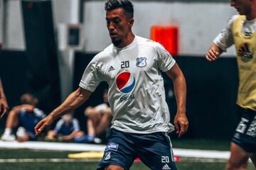
[[[26,169],[50,169],[50,170],[77,170],[86,169],[93,170],[97,167],[97,162],[36,162],[38,159],[67,159],[68,154],[74,152],[53,152],[53,151],[35,151],[30,149],[0,149],[0,159],[16,159],[9,163],[0,163],[1,170],[26,170]],[[22,162],[24,159],[31,159],[30,162]],[[33,159],[35,160],[33,162]],[[21,162],[17,162],[21,161]],[[82,161],[82,162],[81,162]],[[178,169],[180,170],[220,170],[224,169],[225,162],[177,162]],[[146,166],[142,163],[134,163],[131,170],[147,170]],[[252,164],[249,164],[248,170],[254,169]]]

